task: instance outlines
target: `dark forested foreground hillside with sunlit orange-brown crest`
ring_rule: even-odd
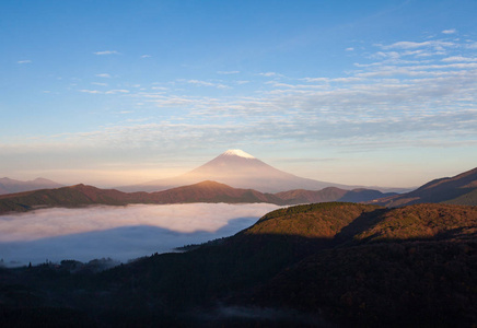
[[[190,251],[102,273],[3,270],[0,323],[472,327],[476,263],[476,207],[304,204]]]

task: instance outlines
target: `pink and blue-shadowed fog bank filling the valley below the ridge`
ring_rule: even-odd
[[[95,258],[126,262],[233,235],[277,208],[268,203],[135,204],[7,214],[0,216],[0,259],[5,266]]]

